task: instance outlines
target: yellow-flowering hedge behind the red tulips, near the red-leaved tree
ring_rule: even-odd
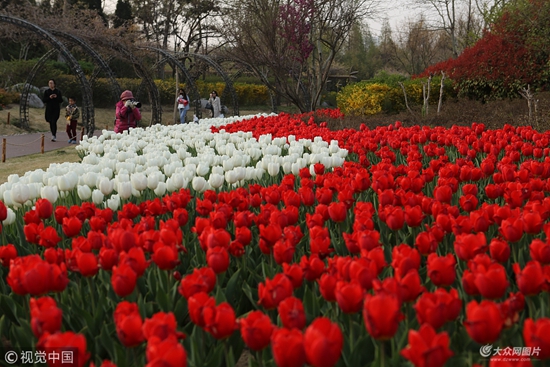
[[[403,82],[407,92],[409,105],[417,106],[424,103],[422,83],[425,80],[415,79]],[[439,101],[439,88],[441,79],[433,78],[431,82],[430,104]],[[444,81],[444,97],[456,95],[451,81]],[[403,90],[399,85],[373,83],[369,81],[350,84],[342,88],[336,96],[336,102],[340,110],[353,116],[369,116],[380,112],[398,112],[405,109]]]

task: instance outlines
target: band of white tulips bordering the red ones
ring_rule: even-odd
[[[174,192],[189,185],[198,192],[233,187],[250,180],[262,180],[267,173],[298,174],[322,163],[327,169],[340,167],[348,154],[336,140],[312,140],[295,136],[255,139],[251,132],[212,133],[222,126],[254,116],[205,119],[200,124],[154,125],[123,134],[102,132],[84,137],[76,147],[81,163],[51,164],[46,170],[11,175],[0,185],[0,198],[8,208],[32,206],[36,199],[55,203],[76,189],[81,200],[92,200],[117,210],[121,199],[139,197],[150,189],[155,195]],[[116,194],[114,194],[116,192]],[[13,210],[10,209],[13,219]],[[10,218],[6,219],[9,224]]]

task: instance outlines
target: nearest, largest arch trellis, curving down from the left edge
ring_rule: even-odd
[[[63,43],[59,42],[59,40],[57,40],[57,38],[55,38],[51,33],[40,28],[36,24],[30,23],[23,19],[7,16],[7,15],[0,15],[0,22],[10,23],[12,25],[28,29],[40,35],[42,38],[46,39],[55,49],[57,49],[57,51],[61,53],[61,55],[67,61],[67,64],[69,65],[73,73],[76,74],[77,78],[80,81],[80,87],[82,88],[83,103],[84,105],[89,106],[88,107],[89,113],[86,116],[83,116],[83,121],[87,126],[88,134],[90,133],[93,134],[94,110],[93,110],[93,101],[91,99],[92,89],[90,87],[90,83],[88,83],[88,80],[84,75],[84,72],[82,71],[82,68],[80,67],[80,65],[78,64],[78,61],[74,58],[74,56],[69,52],[69,50],[67,50],[67,48],[63,45]],[[86,110],[84,112],[86,112]]]

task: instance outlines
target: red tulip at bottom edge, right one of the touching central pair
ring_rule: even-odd
[[[318,317],[304,334],[307,363],[313,367],[332,367],[340,359],[344,337],[338,324]]]

